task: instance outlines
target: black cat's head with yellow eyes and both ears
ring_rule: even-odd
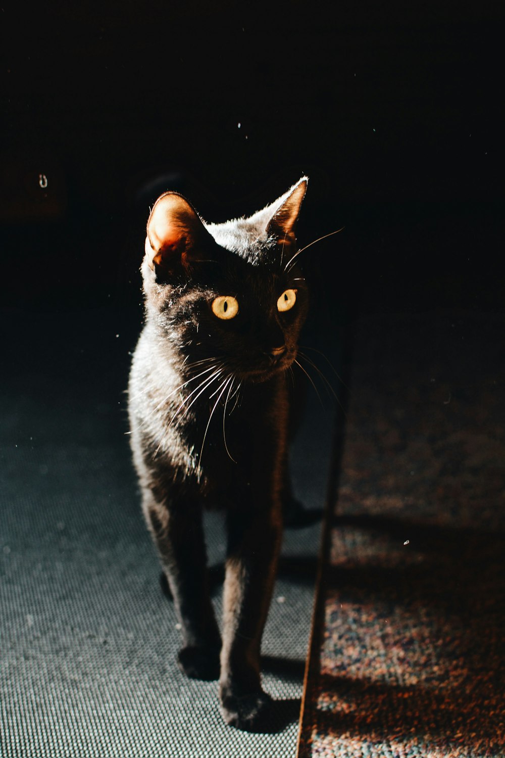
[[[178,193],[151,211],[142,263],[146,311],[187,366],[265,381],[295,360],[307,315],[295,224],[307,177],[249,218],[206,224]]]

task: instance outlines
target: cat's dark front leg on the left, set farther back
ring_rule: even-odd
[[[198,503],[157,503],[145,494],[144,513],[182,627],[177,660],[191,678],[217,679],[221,639],[210,603],[207,559]]]

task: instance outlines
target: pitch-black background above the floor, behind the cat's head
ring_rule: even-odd
[[[179,189],[224,221],[303,173],[300,242],[345,227],[305,258],[323,327],[503,309],[502,3],[0,12],[8,309],[112,304],[136,320],[157,194]]]

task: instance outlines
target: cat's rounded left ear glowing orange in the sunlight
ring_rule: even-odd
[[[191,268],[211,240],[195,208],[175,192],[154,203],[145,237],[145,260],[159,280],[177,269]]]

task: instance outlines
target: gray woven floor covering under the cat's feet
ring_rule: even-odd
[[[2,321],[3,758],[294,756],[320,523],[285,535],[263,641],[270,733],[226,728],[217,683],[176,667],[176,617],[139,509],[121,394],[136,326],[114,309]],[[313,508],[332,415],[313,393],[295,444],[295,493]],[[210,564],[221,526],[206,518]]]

